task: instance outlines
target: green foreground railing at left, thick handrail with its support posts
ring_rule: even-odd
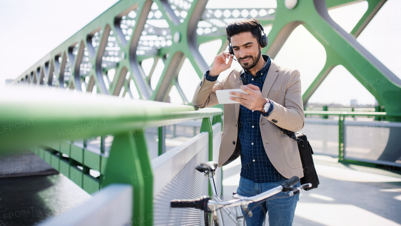
[[[133,219],[137,223],[139,218],[153,214],[152,167],[145,129],[203,118],[201,132],[209,132],[211,148],[211,117],[213,123],[221,122],[223,113],[219,108],[195,111],[186,105],[34,87],[6,88],[0,95],[3,152],[28,148],[88,193],[112,183],[131,184]],[[82,146],[73,142],[106,135],[114,137],[108,156],[101,148],[95,153],[87,150],[85,142]],[[92,177],[91,169],[99,171],[100,176]],[[152,225],[151,221],[143,225]]]

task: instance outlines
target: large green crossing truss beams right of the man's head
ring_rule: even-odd
[[[372,5],[375,3],[377,5],[374,8],[378,10],[383,2],[371,1]],[[397,115],[401,112],[401,86],[396,84],[397,77],[364,49],[354,37],[342,33],[342,29],[330,21],[327,11],[319,8],[323,4],[321,1],[299,1],[294,9],[289,10],[284,6],[284,2],[277,2],[275,21],[268,35],[270,43],[263,51],[274,58],[291,32],[302,24],[325,47],[328,54],[322,72],[303,96],[304,104],[330,70],[342,64],[375,96],[380,105],[386,107],[387,112]],[[375,10],[371,12],[374,13]],[[365,21],[372,17],[372,13],[365,18]],[[363,28],[364,25],[361,23],[359,26]]]

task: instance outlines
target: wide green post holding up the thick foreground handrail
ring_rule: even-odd
[[[115,134],[101,186],[113,183],[132,184],[133,225],[152,225],[153,177],[144,131]]]

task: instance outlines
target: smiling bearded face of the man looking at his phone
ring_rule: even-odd
[[[250,31],[231,36],[231,45],[243,69],[249,70],[259,61],[261,48]]]

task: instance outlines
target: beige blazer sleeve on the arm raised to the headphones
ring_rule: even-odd
[[[230,74],[218,82],[211,82],[205,78],[205,74],[203,74],[201,81],[196,86],[195,94],[192,99],[192,105],[198,108],[205,108],[217,105],[219,102],[217,101],[216,90],[222,90],[224,87],[227,78],[234,73],[234,70],[230,72]]]

